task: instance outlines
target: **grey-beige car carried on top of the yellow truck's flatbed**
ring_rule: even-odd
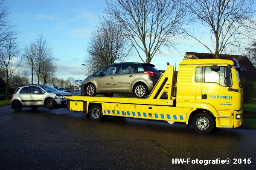
[[[138,98],[144,98],[153,90],[161,74],[153,64],[116,63],[84,79],[82,94],[112,96],[113,93],[133,93]]]

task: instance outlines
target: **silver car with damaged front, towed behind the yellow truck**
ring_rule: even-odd
[[[55,106],[66,104],[64,96],[72,96],[72,94],[58,91],[48,85],[26,85],[16,89],[12,95],[12,109],[21,111],[22,108],[32,108],[33,110],[38,107],[45,107],[49,109]]]

